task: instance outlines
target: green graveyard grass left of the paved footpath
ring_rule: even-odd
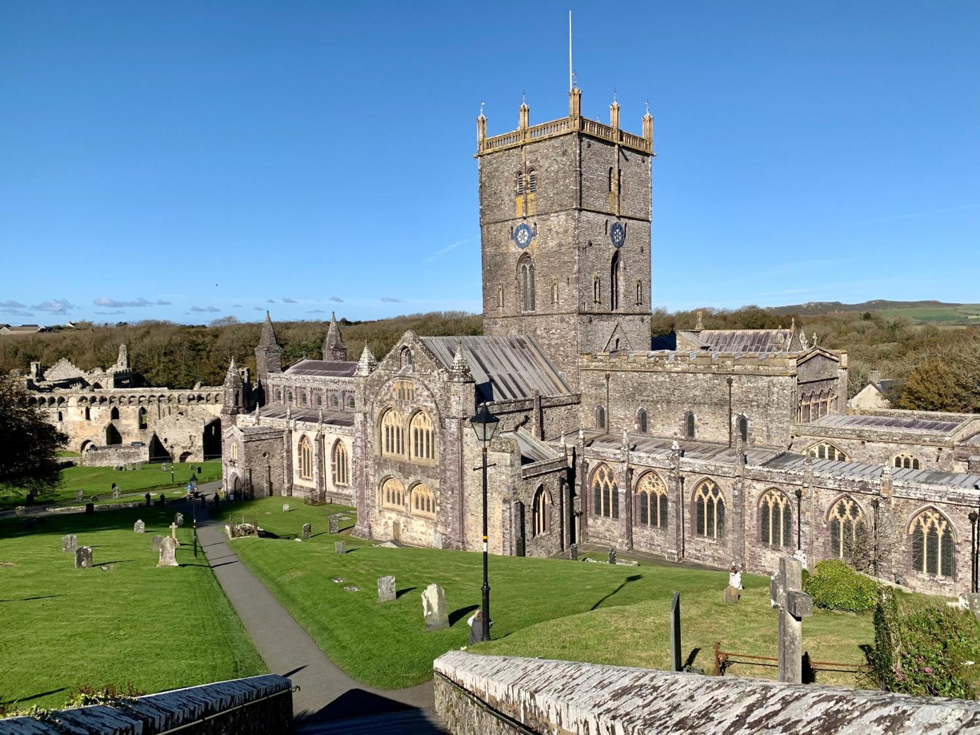
[[[173,514],[51,515],[29,530],[0,520],[0,703],[57,708],[81,684],[152,693],[266,672],[203,554],[195,562],[189,522],[177,530],[182,565],[157,568],[153,536]],[[137,518],[145,533],[133,533]],[[92,568],[62,553],[68,533],[92,547]]]

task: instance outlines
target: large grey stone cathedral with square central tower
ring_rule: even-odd
[[[267,315],[256,384],[223,386],[225,490],[357,509],[365,538],[489,548],[573,544],[768,574],[860,562],[916,591],[976,589],[980,417],[848,411],[845,351],[795,325],[651,342],[654,120],[642,133],[568,115],[488,137],[476,121],[483,335],[406,332],[282,364]],[[666,349],[652,349],[665,347]]]

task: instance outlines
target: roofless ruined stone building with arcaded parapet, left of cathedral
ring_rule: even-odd
[[[137,388],[125,345],[109,368],[83,370],[66,358],[31,363],[28,403],[68,434],[80,462],[200,462],[221,455],[221,387]]]

